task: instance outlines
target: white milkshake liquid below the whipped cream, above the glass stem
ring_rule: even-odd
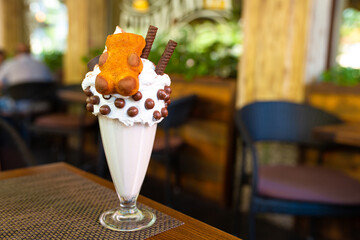
[[[117,119],[99,116],[99,125],[117,193],[125,199],[137,197],[149,164],[156,124],[126,126]]]

